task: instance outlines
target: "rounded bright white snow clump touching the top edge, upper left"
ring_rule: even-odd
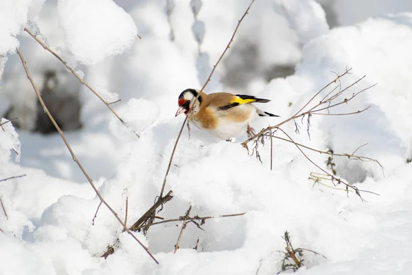
[[[122,54],[137,36],[132,17],[111,0],[59,0],[57,11],[67,47],[86,65]]]

